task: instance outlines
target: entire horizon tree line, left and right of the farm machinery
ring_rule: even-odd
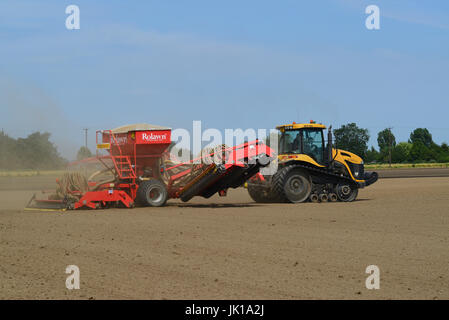
[[[368,147],[368,129],[348,123],[334,131],[335,146],[354,152],[367,163],[420,163],[449,162],[449,146],[438,145],[427,128],[417,128],[408,141],[397,142],[390,128],[377,134],[378,148]],[[0,170],[54,170],[63,168],[67,160],[60,156],[49,140],[50,133],[34,132],[26,138],[14,139],[0,132]],[[91,157],[86,147],[81,147],[77,159]]]

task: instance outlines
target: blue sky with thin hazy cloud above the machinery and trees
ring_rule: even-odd
[[[81,29],[65,28],[76,4]],[[365,8],[380,8],[380,30]],[[273,128],[356,122],[398,141],[427,127],[449,142],[448,1],[0,2],[1,127],[52,133],[63,155],[82,128]]]

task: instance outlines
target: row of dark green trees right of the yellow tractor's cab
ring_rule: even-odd
[[[349,123],[334,130],[337,148],[354,152],[365,162],[420,163],[449,162],[449,146],[435,143],[427,128],[417,128],[410,133],[408,141],[397,143],[391,128],[377,134],[378,149],[368,148],[368,129]]]

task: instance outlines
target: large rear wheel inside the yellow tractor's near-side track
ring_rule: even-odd
[[[292,165],[279,170],[273,176],[273,188],[281,199],[301,203],[306,201],[312,192],[312,180],[306,170]]]

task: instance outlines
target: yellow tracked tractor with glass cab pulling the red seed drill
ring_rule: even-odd
[[[273,175],[258,174],[248,181],[254,201],[350,202],[357,198],[359,188],[377,181],[376,172],[364,171],[362,158],[332,146],[332,126],[327,144],[326,126],[314,121],[276,129],[280,131],[278,168]]]

